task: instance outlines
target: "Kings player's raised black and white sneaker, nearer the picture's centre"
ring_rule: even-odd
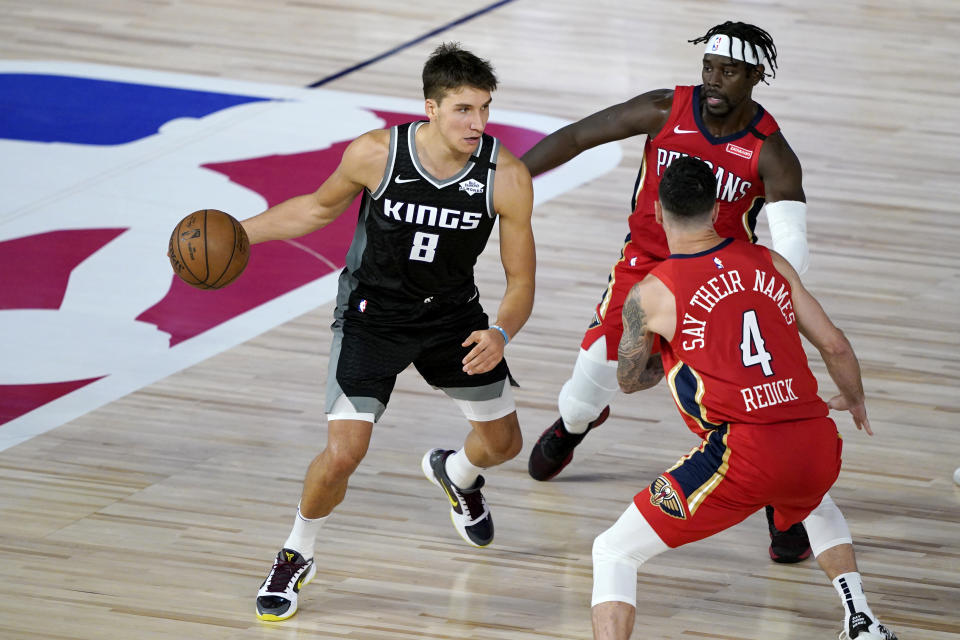
[[[453,453],[445,449],[431,449],[424,454],[420,467],[427,480],[447,494],[447,500],[450,501],[450,519],[460,537],[475,547],[485,547],[493,542],[493,518],[487,508],[487,501],[480,493],[483,476],[478,477],[469,489],[461,489],[450,482],[446,462]]]

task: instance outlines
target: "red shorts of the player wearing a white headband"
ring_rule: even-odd
[[[620,337],[623,335],[623,302],[630,293],[630,288],[640,282],[650,271],[663,262],[650,254],[637,249],[627,242],[620,253],[620,260],[613,265],[607,288],[600,298],[593,322],[587,328],[580,346],[589,349],[590,345],[600,339],[607,338],[607,360],[616,362],[617,347],[620,346]],[[660,342],[654,342],[654,353],[660,352]]]

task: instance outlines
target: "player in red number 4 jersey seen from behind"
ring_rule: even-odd
[[[594,541],[594,637],[630,637],[642,562],[773,505],[779,528],[806,522],[843,602],[840,638],[896,640],[867,605],[850,530],[827,493],[842,442],[828,407],[849,410],[857,428],[873,435],[860,365],[783,257],[717,233],[715,188],[713,167],[696,158],[664,172],[654,215],[671,255],[624,302],[620,387],[648,386],[659,343],[677,408],[703,442]],[[817,395],[800,333],[839,388],[829,404]]]

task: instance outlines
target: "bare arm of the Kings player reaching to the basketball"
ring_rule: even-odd
[[[343,213],[360,191],[374,190],[387,166],[390,132],[365,133],[346,148],[340,165],[315,192],[274,205],[242,222],[250,244],[298,238],[321,229]]]

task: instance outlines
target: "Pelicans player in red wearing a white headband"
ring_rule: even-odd
[[[753,25],[725,22],[691,42],[706,43],[702,84],[650,91],[599,111],[550,134],[521,158],[536,176],[599,144],[647,136],[630,233],[580,345],[573,374],[560,391],[560,418],[530,453],[528,469],[537,480],[560,473],[586,433],[610,413],[617,392],[623,300],[634,283],[669,255],[653,211],[660,177],[677,158],[700,158],[716,174],[721,235],[756,242],[757,215],[766,203],[773,248],[799,273],[807,268],[800,162],[773,116],[752,99],[757,83],[776,72],[772,38]],[[658,380],[661,373],[654,355],[649,379]],[[780,531],[773,525],[772,511],[767,517],[771,558],[798,562],[810,555],[802,525]]]

